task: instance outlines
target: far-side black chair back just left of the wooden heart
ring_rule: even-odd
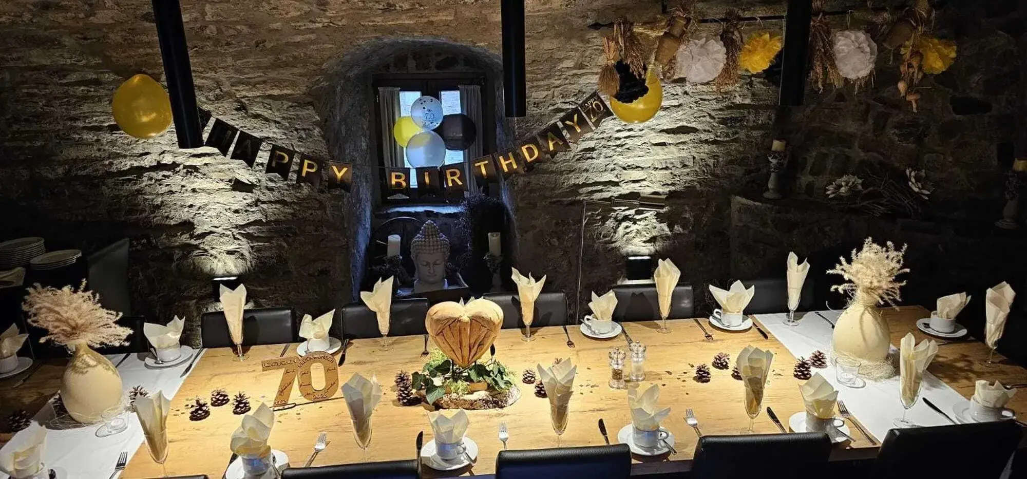
[[[389,312],[389,336],[427,334],[424,318],[428,315],[428,300],[424,298],[393,299]],[[342,335],[362,339],[382,337],[378,331],[378,316],[363,302],[342,307]]]

